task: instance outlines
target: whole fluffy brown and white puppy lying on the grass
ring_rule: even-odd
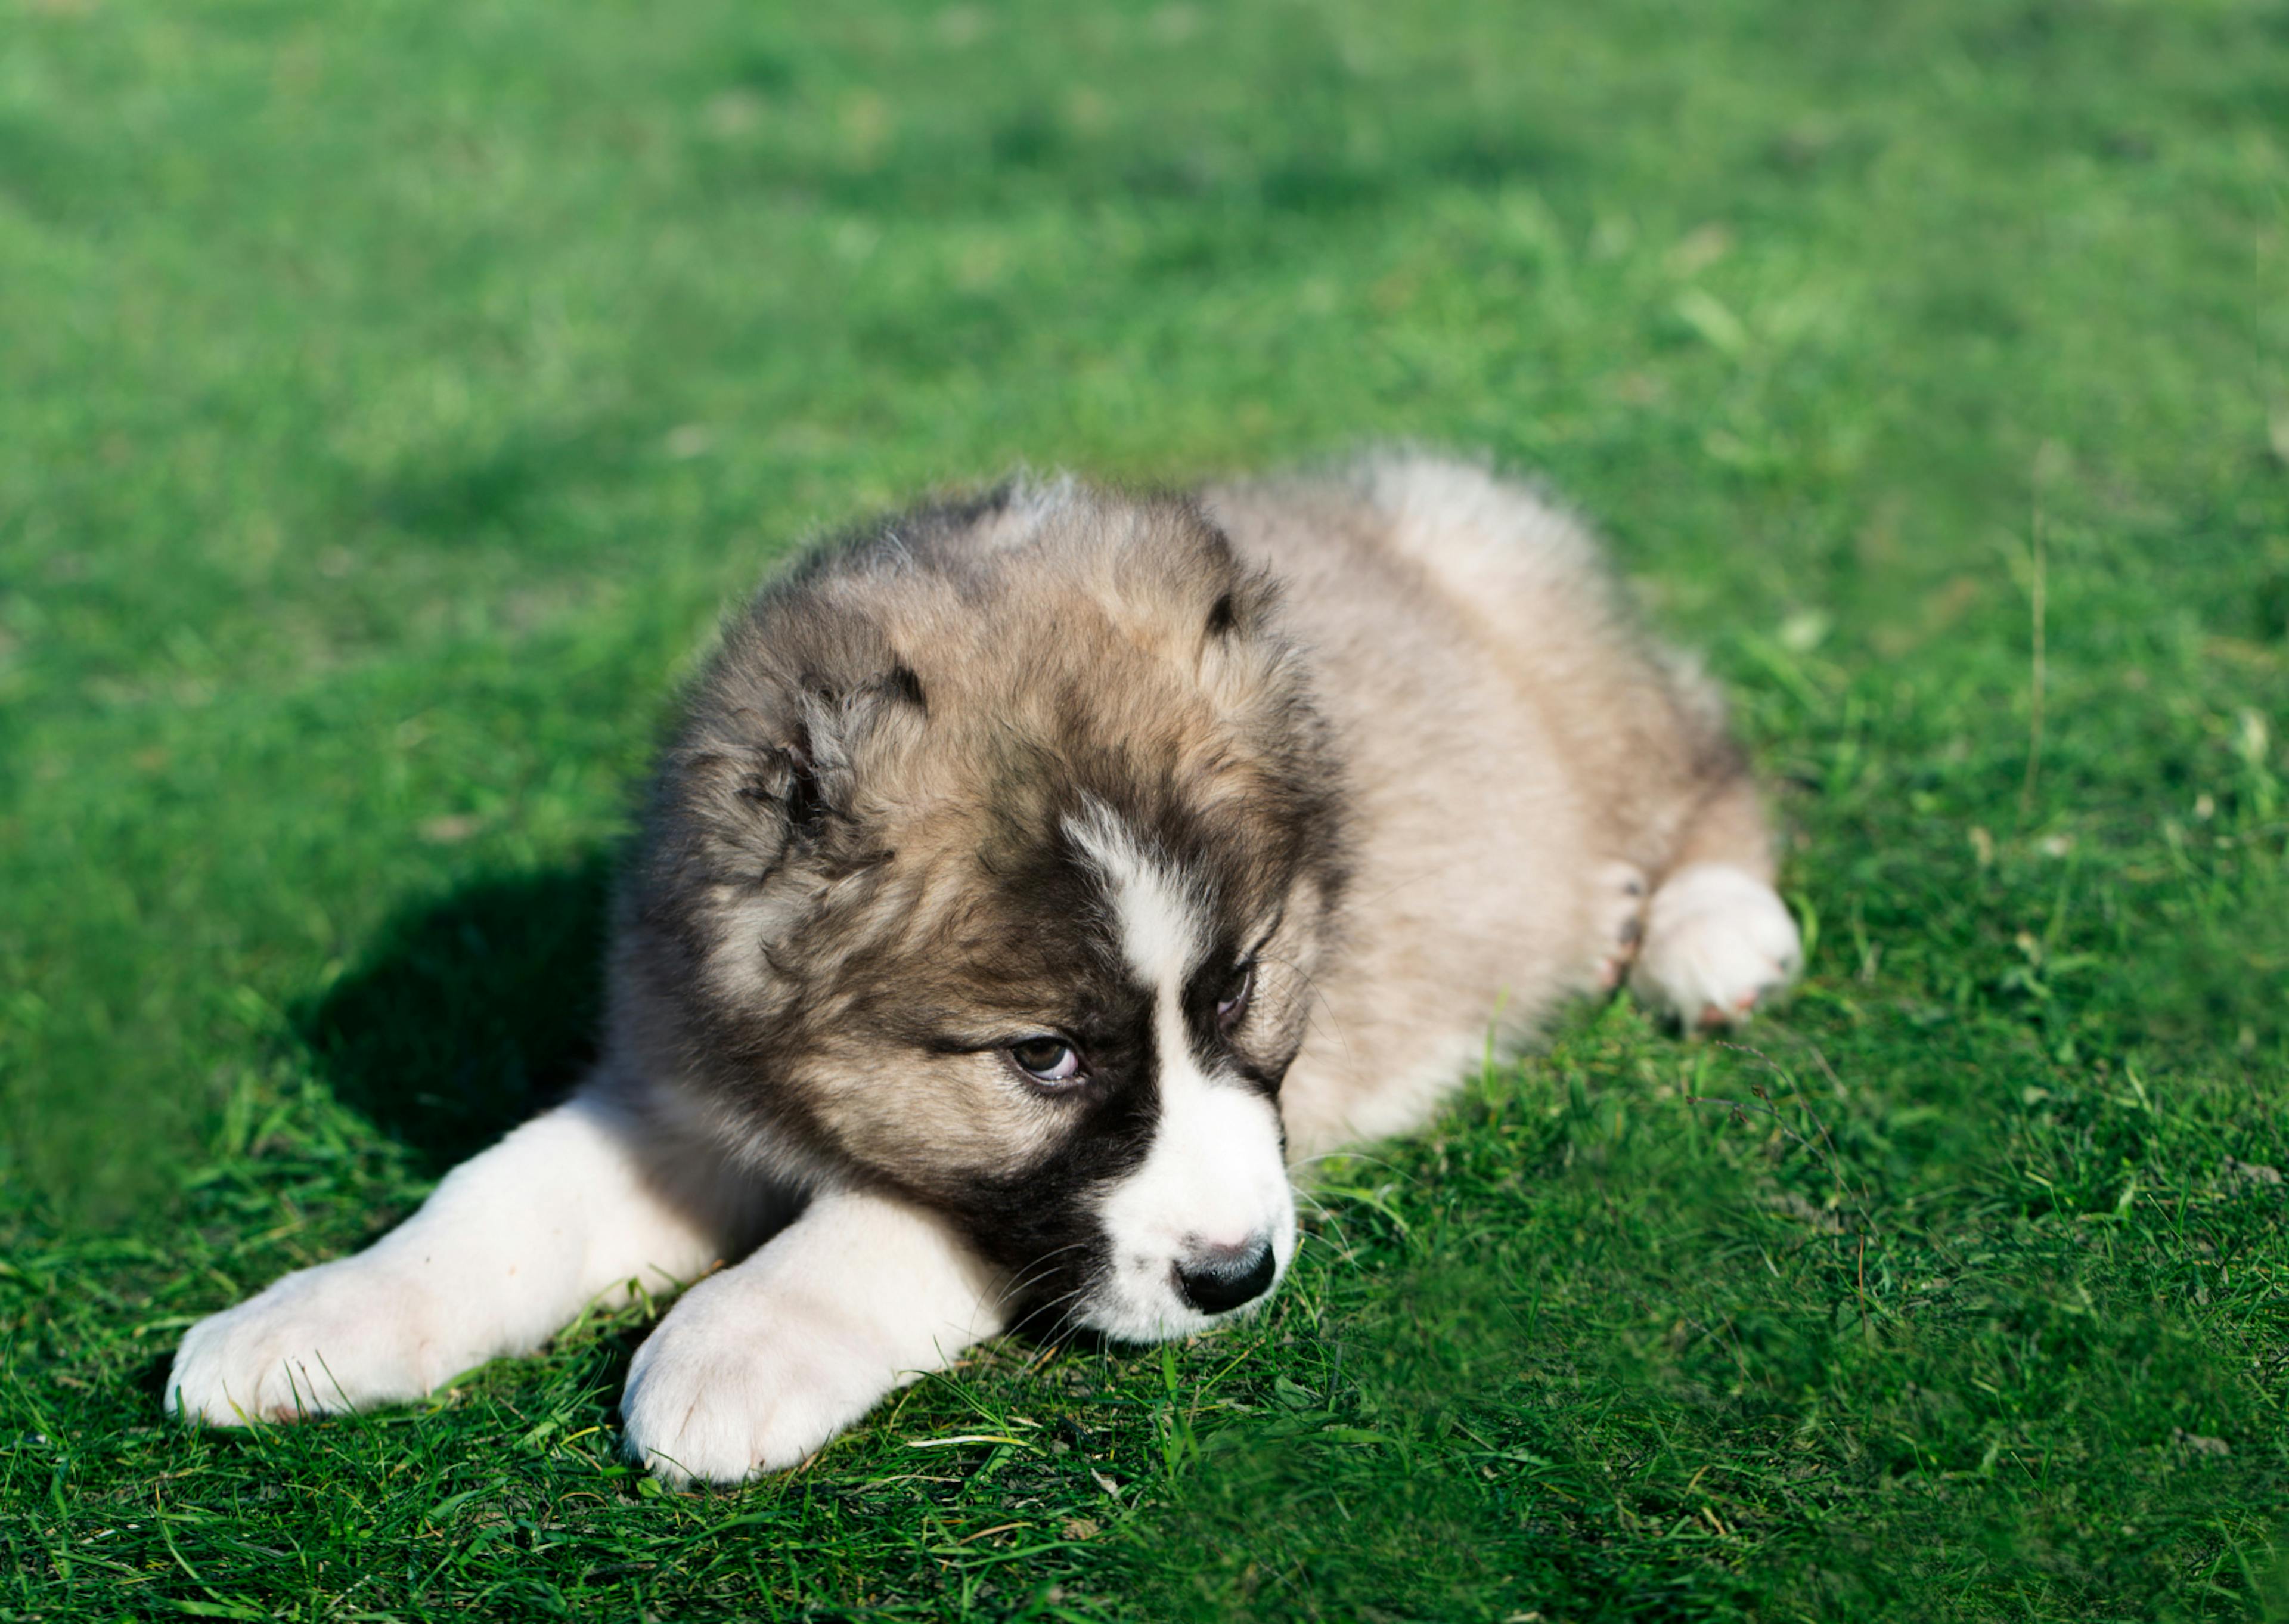
[[[1627,978],[1726,1024],[1797,957],[1714,692],[1531,490],[1385,456],[922,506],[691,687],[572,1102],[192,1326],[165,1402],[412,1400],[682,1290],[629,1454],[794,1466],[1019,1317],[1261,1301],[1289,1164],[1419,1125],[1490,1022]]]

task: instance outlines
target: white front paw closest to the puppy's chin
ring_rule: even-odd
[[[730,1274],[684,1292],[629,1365],[627,1452],[668,1482],[801,1466],[911,1374],[831,1308],[746,1285]]]

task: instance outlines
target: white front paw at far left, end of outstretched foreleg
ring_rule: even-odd
[[[433,1303],[359,1258],[300,1269],[183,1333],[167,1413],[213,1427],[369,1409],[428,1393]]]

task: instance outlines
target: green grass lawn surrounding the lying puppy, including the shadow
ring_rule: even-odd
[[[0,11],[0,1617],[2289,1617],[2284,131],[2209,0]],[[1730,680],[1753,1049],[1584,1010],[1261,1319],[737,1493],[634,1312],[160,1425],[577,1072],[803,534],[1367,437]]]

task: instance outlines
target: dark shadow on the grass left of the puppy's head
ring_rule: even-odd
[[[293,1026],[343,1104],[444,1173],[595,1061],[609,896],[597,850],[410,905]]]

